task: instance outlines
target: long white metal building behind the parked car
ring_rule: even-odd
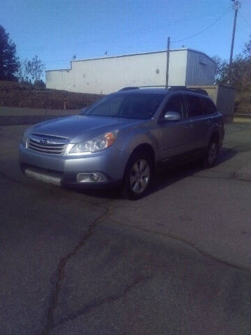
[[[128,86],[165,85],[167,52],[71,61],[70,69],[47,70],[46,88],[109,94]],[[203,52],[170,50],[169,85],[211,85],[215,63]]]

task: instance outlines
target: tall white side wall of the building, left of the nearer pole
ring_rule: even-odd
[[[77,91],[108,94],[127,86],[165,84],[163,54],[74,61]]]

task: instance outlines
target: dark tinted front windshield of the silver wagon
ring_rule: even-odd
[[[151,119],[165,94],[116,94],[107,96],[83,112],[96,117]]]

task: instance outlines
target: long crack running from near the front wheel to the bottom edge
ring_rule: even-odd
[[[100,216],[99,218],[96,218],[96,220],[94,220],[93,223],[91,223],[91,225],[89,225],[89,229],[87,230],[86,234],[84,234],[82,239],[79,241],[79,244],[77,244],[77,246],[75,246],[73,251],[71,251],[66,256],[64,256],[61,259],[61,261],[59,262],[59,265],[56,269],[57,281],[56,281],[56,285],[54,287],[54,291],[52,293],[52,303],[51,303],[51,306],[50,306],[49,311],[47,313],[47,323],[46,323],[45,328],[43,329],[43,332],[41,333],[41,335],[50,334],[50,331],[54,327],[54,312],[56,310],[56,306],[57,306],[57,303],[58,303],[58,300],[59,300],[59,293],[61,291],[61,285],[63,283],[63,278],[64,278],[64,275],[65,275],[64,270],[65,270],[65,267],[67,265],[68,260],[70,260],[70,258],[73,258],[77,254],[79,249],[82,248],[82,246],[84,246],[84,244],[86,244],[86,242],[94,234],[97,225],[99,223],[101,223],[102,221],[104,221],[105,218],[107,218],[107,216],[109,216],[109,214],[111,214],[111,212],[112,212],[112,206],[110,205],[107,208],[107,211],[105,212],[105,214],[102,214],[102,216]]]

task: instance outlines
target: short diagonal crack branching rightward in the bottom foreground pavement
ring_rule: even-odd
[[[79,318],[79,316],[85,315],[86,313],[91,313],[91,311],[93,311],[94,309],[102,306],[103,304],[110,304],[114,301],[117,301],[121,298],[126,297],[126,295],[128,294],[128,292],[130,292],[130,290],[132,290],[132,288],[135,288],[136,285],[138,285],[139,283],[142,283],[144,281],[147,281],[149,279],[151,279],[152,276],[145,276],[145,277],[139,277],[136,278],[134,281],[132,281],[132,283],[130,283],[124,290],[123,292],[116,294],[116,295],[109,295],[108,297],[105,297],[103,299],[97,299],[94,301],[91,301],[89,304],[86,304],[86,306],[84,306],[83,308],[80,308],[79,310],[70,313],[68,316],[66,316],[65,318],[62,318],[61,320],[59,320],[58,322],[56,322],[54,324],[54,327],[57,327],[59,325],[62,325],[63,323],[66,323],[68,321],[72,321],[75,320],[76,318]]]

